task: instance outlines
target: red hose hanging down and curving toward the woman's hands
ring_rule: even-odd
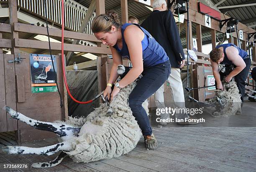
[[[64,62],[64,0],[61,0],[61,61],[62,61],[62,71],[63,71],[63,78],[64,78],[64,83],[67,88],[67,92],[69,96],[74,100],[75,102],[79,104],[87,104],[91,103],[92,100],[89,100],[87,102],[80,102],[76,100],[70,93],[69,87],[67,85],[67,78],[66,78],[66,71],[65,71],[65,62]]]

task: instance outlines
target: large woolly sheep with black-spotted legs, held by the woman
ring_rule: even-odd
[[[86,118],[69,117],[66,122],[42,122],[33,120],[10,107],[5,110],[16,120],[38,129],[59,135],[59,143],[47,147],[3,147],[8,154],[53,155],[61,152],[51,162],[33,163],[32,167],[53,167],[69,155],[75,162],[92,162],[124,155],[136,147],[142,134],[128,105],[128,97],[136,81],[121,89],[110,105],[101,104]],[[144,103],[145,105],[145,103]],[[109,114],[108,109],[112,108]]]

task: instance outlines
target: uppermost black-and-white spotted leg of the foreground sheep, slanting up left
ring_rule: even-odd
[[[38,130],[54,132],[56,135],[59,135],[60,137],[78,136],[78,133],[80,132],[80,128],[68,126],[67,124],[33,120],[32,118],[26,117],[20,112],[16,112],[8,106],[5,106],[4,109],[11,115],[13,119],[25,122],[26,124]]]

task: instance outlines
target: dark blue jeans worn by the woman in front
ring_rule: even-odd
[[[138,81],[129,96],[129,106],[142,130],[143,136],[151,135],[152,129],[142,103],[164,84],[170,73],[171,65],[169,60],[156,66],[144,67],[143,77]]]

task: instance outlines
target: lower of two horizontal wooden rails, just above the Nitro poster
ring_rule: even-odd
[[[22,48],[49,49],[49,43],[39,40],[15,39],[15,46]],[[51,42],[51,50],[61,50],[61,43]],[[85,45],[64,44],[64,51],[89,52],[99,54],[111,54],[110,48],[92,47]]]

